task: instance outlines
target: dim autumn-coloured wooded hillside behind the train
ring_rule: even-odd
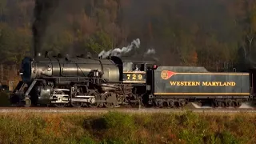
[[[0,0],[0,62],[33,54],[34,0]],[[62,2],[50,14],[42,50],[81,54],[141,40],[162,65],[208,66],[254,61],[255,0],[88,0]]]

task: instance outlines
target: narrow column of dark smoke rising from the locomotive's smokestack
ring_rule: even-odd
[[[46,34],[46,27],[49,25],[50,14],[58,6],[58,0],[36,0],[34,6],[34,23],[33,23],[33,36],[34,36],[34,56],[42,50],[42,38]]]

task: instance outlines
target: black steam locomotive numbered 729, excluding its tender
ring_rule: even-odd
[[[113,107],[138,104],[146,94],[146,70],[154,60],[91,58],[61,55],[22,60],[18,83],[10,102],[18,105]],[[138,69],[138,70],[136,70]]]

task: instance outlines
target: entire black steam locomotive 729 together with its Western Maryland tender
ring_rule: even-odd
[[[204,67],[158,66],[154,58],[45,54],[22,60],[22,81],[10,102],[58,107],[179,107],[199,102],[239,107],[254,98],[254,74],[254,70],[211,73]]]

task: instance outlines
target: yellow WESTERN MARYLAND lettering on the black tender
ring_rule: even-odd
[[[170,82],[171,86],[235,86],[235,82]]]

